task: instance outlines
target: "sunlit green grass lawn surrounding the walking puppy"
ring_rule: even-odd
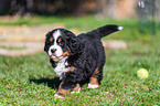
[[[139,32],[139,23],[136,19],[97,19],[94,15],[21,18],[12,21],[1,20],[0,25],[35,25],[57,22],[64,23],[67,29],[77,28],[81,31],[89,31],[111,23],[121,25],[122,31],[103,40],[124,40],[128,47],[127,50],[105,50],[107,59],[104,78],[97,89],[87,89],[87,84],[85,84],[79,94],[70,94],[63,99],[53,97],[60,81],[44,52],[30,56],[0,56],[0,105],[160,105],[159,30],[152,38],[150,33]],[[139,80],[136,75],[141,67],[149,72],[149,77],[146,80]]]

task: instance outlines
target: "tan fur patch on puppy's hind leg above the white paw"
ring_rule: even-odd
[[[98,73],[98,67],[97,67],[94,72],[93,76],[90,77],[90,81],[89,81],[89,83],[92,85],[99,85],[98,84],[98,75],[99,75],[99,73]]]

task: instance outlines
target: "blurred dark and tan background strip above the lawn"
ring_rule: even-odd
[[[0,14],[30,15],[99,13],[113,18],[134,17],[138,0],[0,0]]]

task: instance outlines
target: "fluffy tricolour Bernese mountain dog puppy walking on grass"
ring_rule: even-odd
[[[85,80],[89,80],[88,88],[99,86],[106,61],[100,39],[119,30],[122,26],[108,24],[79,35],[65,29],[55,29],[46,34],[44,51],[62,80],[55,97],[79,93],[79,83]]]

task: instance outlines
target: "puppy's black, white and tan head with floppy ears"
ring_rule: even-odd
[[[65,29],[55,29],[46,34],[44,51],[54,61],[60,61],[72,55],[76,45],[74,33]]]

